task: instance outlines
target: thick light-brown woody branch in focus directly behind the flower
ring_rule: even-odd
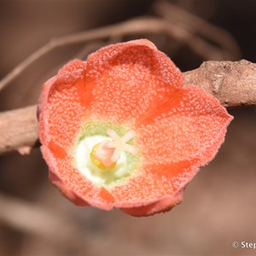
[[[256,64],[206,61],[183,73],[185,84],[195,84],[227,108],[256,106]],[[38,144],[37,106],[0,113],[0,154],[18,150],[28,154]]]

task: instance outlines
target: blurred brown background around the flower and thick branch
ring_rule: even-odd
[[[158,22],[167,29],[154,29]],[[34,61],[0,92],[0,110],[36,104],[64,63],[133,38],[152,40],[182,71],[207,60],[255,62],[255,25],[254,0],[1,0],[1,78],[52,38],[89,38]],[[110,26],[107,36],[102,26]],[[229,112],[224,145],[183,203],[148,218],[73,206],[49,183],[38,148],[1,155],[0,255],[255,255],[232,242],[256,242],[256,110]]]

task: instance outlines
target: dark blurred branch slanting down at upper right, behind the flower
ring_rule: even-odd
[[[153,8],[169,24],[186,33],[184,43],[204,60],[237,61],[241,58],[239,45],[224,29],[167,1],[156,1]]]

